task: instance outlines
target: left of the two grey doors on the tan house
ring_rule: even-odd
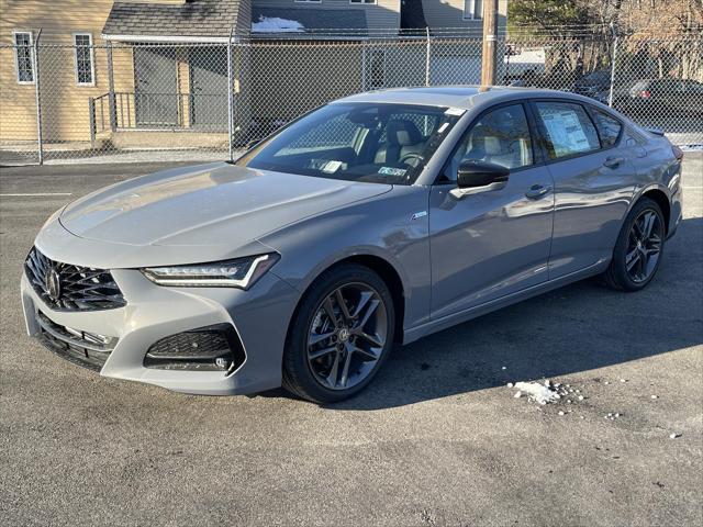
[[[178,124],[176,48],[134,48],[134,111],[140,127]]]

